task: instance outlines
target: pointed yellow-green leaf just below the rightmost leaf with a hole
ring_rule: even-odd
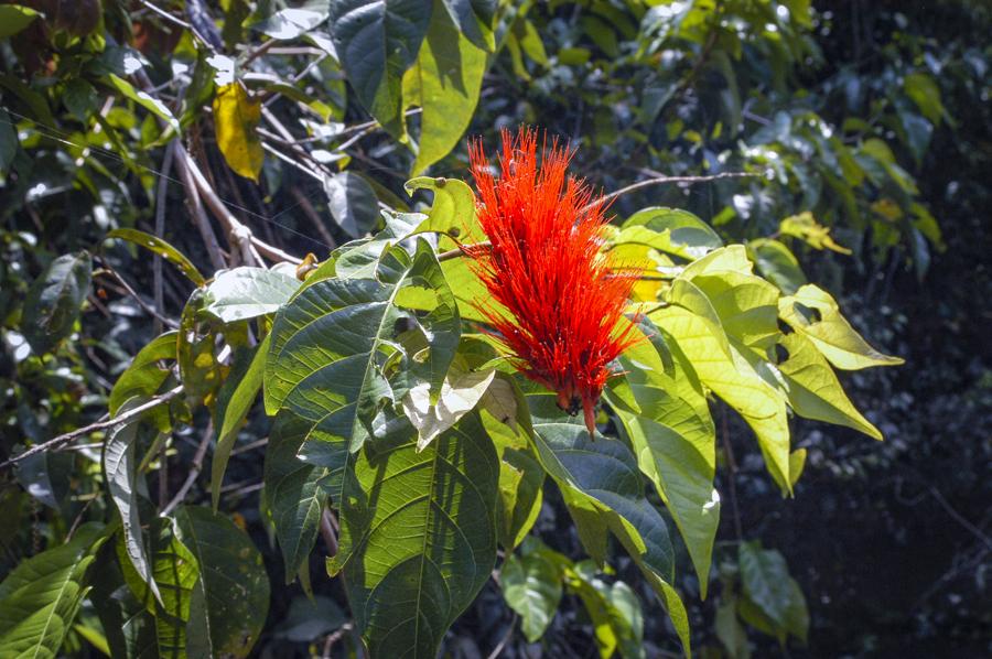
[[[807,419],[816,419],[861,431],[881,440],[882,433],[848,399],[827,359],[810,339],[799,333],[779,341],[789,354],[778,365],[787,383],[789,406]]]

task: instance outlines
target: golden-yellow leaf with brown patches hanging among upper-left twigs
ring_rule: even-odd
[[[238,83],[225,85],[214,98],[217,147],[231,170],[258,182],[263,151],[255,128],[261,120],[261,104]]]

